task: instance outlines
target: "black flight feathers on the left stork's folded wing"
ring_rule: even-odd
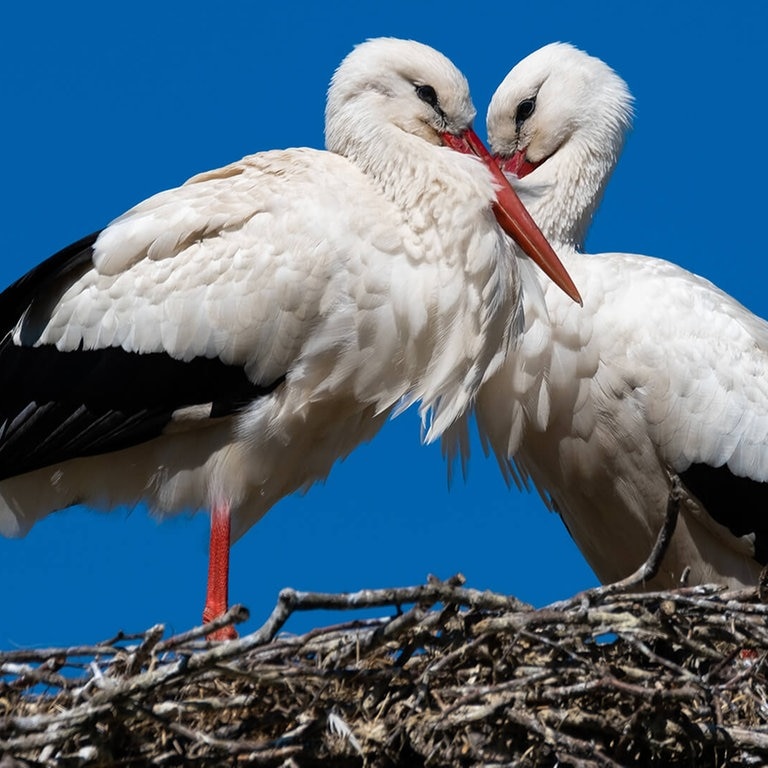
[[[210,404],[211,417],[225,416],[285,380],[254,383],[218,358],[31,346],[56,302],[91,268],[97,237],[59,251],[0,294],[0,479],[151,440],[180,408]],[[12,331],[22,317],[19,346]]]

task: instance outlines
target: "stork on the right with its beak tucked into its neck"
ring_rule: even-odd
[[[545,283],[543,303],[524,291],[521,348],[482,388],[479,425],[601,581],[646,559],[676,473],[687,497],[648,586],[686,573],[754,585],[768,563],[768,324],[667,261],[582,253],[631,111],[624,81],[565,44],[521,61],[493,96],[491,149],[522,177],[584,307]]]

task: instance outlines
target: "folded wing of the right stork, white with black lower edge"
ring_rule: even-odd
[[[627,290],[602,325],[629,342],[623,376],[659,456],[718,523],[752,534],[766,563],[768,323],[668,262],[621,266]]]

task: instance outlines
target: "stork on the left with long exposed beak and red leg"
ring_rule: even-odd
[[[76,503],[210,509],[208,621],[276,501],[396,408],[438,437],[519,326],[494,210],[577,296],[493,161],[444,146],[484,150],[474,115],[444,56],[368,41],[332,79],[330,151],[195,176],[6,289],[0,532]]]

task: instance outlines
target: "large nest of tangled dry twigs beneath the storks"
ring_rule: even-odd
[[[461,577],[284,590],[234,641],[205,634],[237,607],[167,639],[0,652],[0,768],[766,765],[768,605],[637,590],[649,563],[540,609]],[[372,606],[280,633],[297,610]]]

